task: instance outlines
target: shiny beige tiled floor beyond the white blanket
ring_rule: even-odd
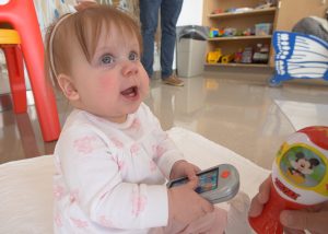
[[[254,82],[250,78],[256,75],[243,80],[233,73],[208,72],[204,77],[184,79],[184,87],[153,80],[145,103],[164,129],[177,126],[192,130],[270,168],[279,145],[295,130],[274,100],[311,103],[316,108],[318,104],[328,105],[328,86],[292,83],[272,89],[265,82]],[[0,105],[1,102],[5,106],[10,98],[2,95]],[[70,107],[61,96],[58,109],[63,122]],[[306,109],[303,112],[306,116]],[[317,113],[321,119],[328,114]],[[42,140],[33,101],[28,115],[14,115],[11,109],[0,112],[0,163],[50,154],[54,147],[55,142]]]

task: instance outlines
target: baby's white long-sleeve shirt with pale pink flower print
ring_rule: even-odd
[[[145,104],[124,124],[73,110],[55,149],[55,232],[147,233],[165,226],[165,177],[179,160]]]

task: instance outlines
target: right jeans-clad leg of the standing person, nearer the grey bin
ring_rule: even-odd
[[[172,75],[176,23],[181,11],[183,0],[163,0],[161,4],[161,67],[162,79]]]

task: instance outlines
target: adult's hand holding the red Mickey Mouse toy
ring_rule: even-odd
[[[259,192],[250,203],[249,217],[261,214],[263,206],[270,197],[270,177],[259,187]],[[328,230],[328,201],[304,210],[284,210],[280,213],[280,222],[285,233],[327,233]]]

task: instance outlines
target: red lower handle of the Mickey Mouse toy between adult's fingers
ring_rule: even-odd
[[[283,226],[279,221],[283,210],[300,210],[307,206],[298,204],[283,199],[276,190],[271,180],[270,199],[265,204],[262,213],[256,218],[249,218],[249,224],[259,234],[282,234]]]

